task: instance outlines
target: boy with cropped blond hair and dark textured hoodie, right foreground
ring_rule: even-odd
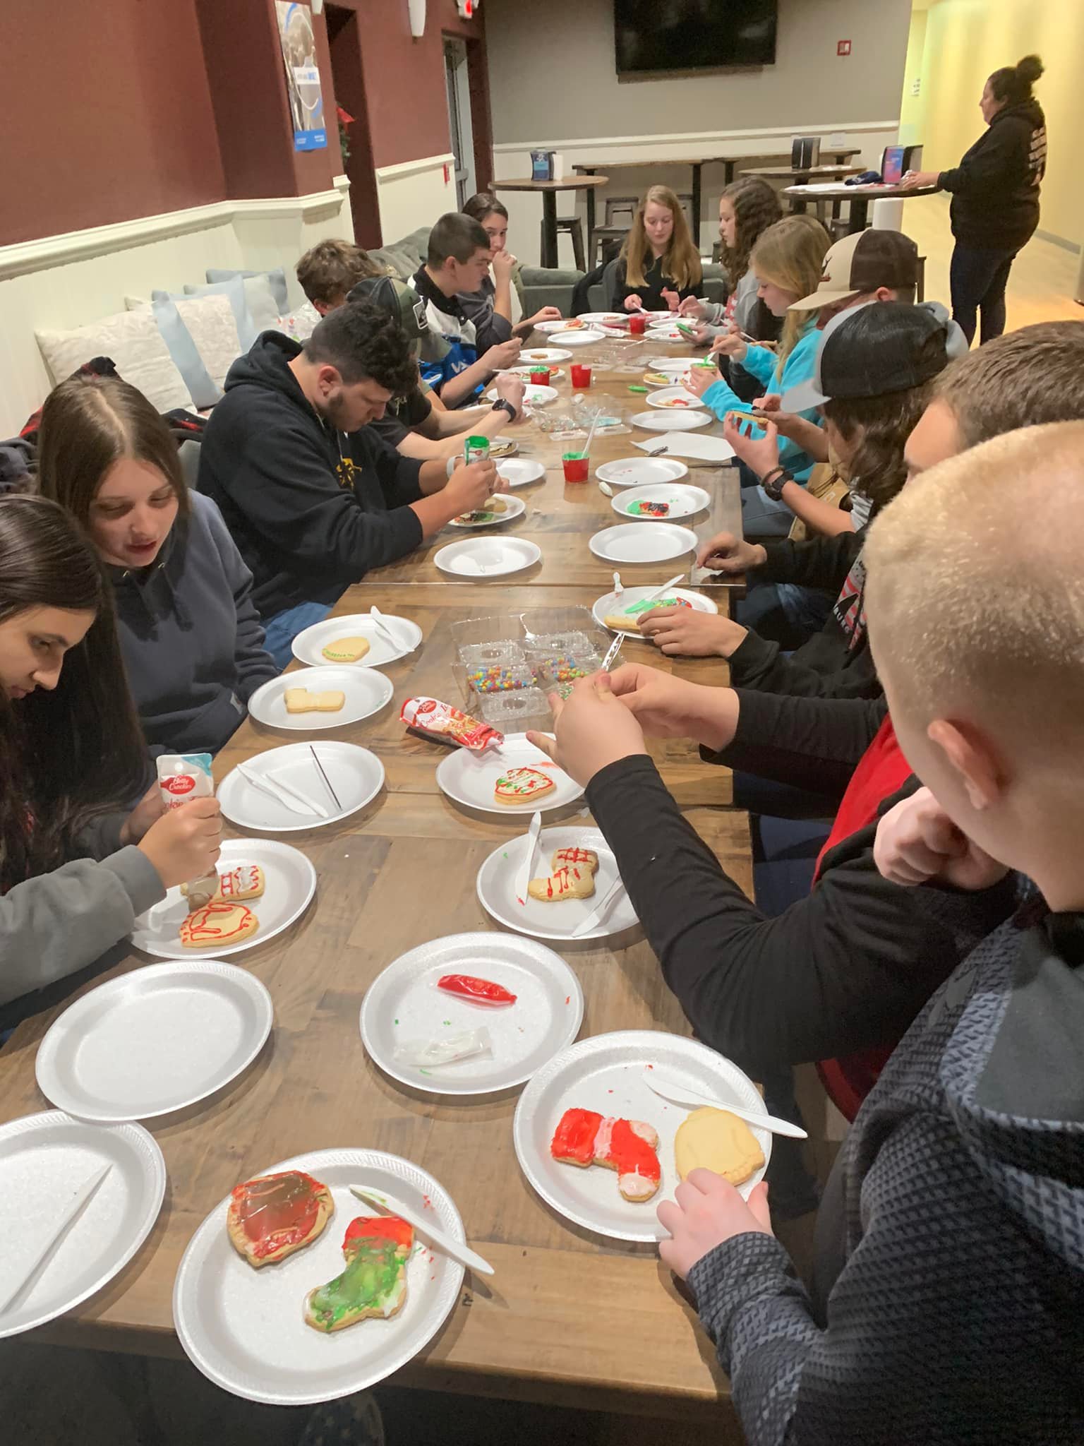
[[[659,1252],[750,1446],[1084,1440],[1083,457],[1078,422],[1019,431],[873,523],[870,630],[900,745],[968,852],[1038,892],[866,1100],[809,1291],[763,1187],[746,1205],[694,1170],[659,1206]]]

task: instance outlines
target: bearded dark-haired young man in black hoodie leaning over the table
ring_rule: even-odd
[[[230,367],[204,431],[199,490],[253,574],[279,667],[345,587],[503,490],[490,461],[454,471],[413,461],[367,427],[416,376],[402,328],[361,305],[332,311],[304,346],[264,331]]]

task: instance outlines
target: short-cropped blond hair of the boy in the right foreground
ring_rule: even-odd
[[[1084,422],[1006,432],[903,487],[863,549],[893,706],[922,727],[964,709],[1015,743],[1078,752],[1083,513]]]

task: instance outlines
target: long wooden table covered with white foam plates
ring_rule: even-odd
[[[535,431],[528,424],[525,441]],[[627,445],[629,438],[611,441]],[[714,486],[733,489],[736,506],[737,484],[726,469]],[[578,538],[590,557],[585,538],[597,521],[590,502],[601,496],[597,486],[577,489],[569,499],[564,483],[548,473],[545,483],[528,490],[545,545],[564,538],[562,555],[571,565]],[[575,526],[554,534],[548,531],[552,516],[569,518]],[[343,596],[338,615],[376,603],[422,629],[419,648],[384,669],[395,684],[393,703],[361,723],[330,730],[330,736],[373,749],[384,763],[387,787],[343,824],[291,834],[289,842],[317,868],[315,899],[283,936],[236,956],[275,1001],[269,1044],[217,1098],[150,1122],[169,1171],[166,1203],[150,1238],[106,1290],[42,1327],[35,1339],[181,1353],[172,1326],[173,1277],[207,1212],[238,1180],[278,1160],[364,1144],[431,1170],[455,1199],[468,1239],[496,1267],[491,1281],[467,1277],[447,1323],[395,1377],[396,1384],[702,1417],[717,1434],[727,1432],[727,1439],[737,1430],[714,1352],[656,1251],[571,1226],[523,1180],[512,1147],[517,1092],[478,1100],[412,1093],[376,1069],[358,1034],[361,999],[393,959],[442,934],[496,930],[476,898],[474,876],[502,840],[523,829],[522,818],[470,816],[439,792],[435,768],[445,750],[405,733],[402,701],[413,693],[457,700],[451,675],[455,622],[539,604],[590,606],[600,581],[610,584],[608,571],[595,578],[587,562],[574,568],[574,581],[559,581],[558,570],[551,571],[494,589],[383,568]],[[715,597],[724,609],[727,591]],[[626,649],[684,678],[726,681],[718,659],[672,659],[640,642]],[[278,743],[319,736],[249,720],[215,761],[215,777],[221,781],[238,761]],[[684,740],[655,742],[652,752],[694,826],[750,891],[749,826],[744,814],[726,807],[728,772],[700,763]],[[230,824],[225,833],[246,836]],[[581,1037],[629,1028],[691,1032],[643,938],[629,943],[626,936],[623,947],[603,941],[564,954],[584,986]],[[146,962],[133,951],[94,983]],[[82,992],[93,986],[84,985]],[[27,1019],[0,1051],[0,1119],[48,1108],[35,1083],[35,1053],[62,1008]]]

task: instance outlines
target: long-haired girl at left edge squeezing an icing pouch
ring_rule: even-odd
[[[165,814],[155,788],[124,810],[145,784],[93,548],[55,503],[0,499],[0,1031],[214,868],[218,803]]]

